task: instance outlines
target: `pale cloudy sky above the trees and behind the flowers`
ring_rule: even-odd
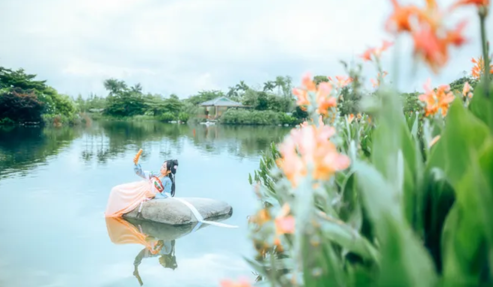
[[[389,0],[0,0],[0,66],[83,97],[106,95],[109,78],[180,98],[241,80],[261,86],[278,75],[298,85],[305,73],[344,75],[341,60],[360,62],[366,48],[392,41],[384,31],[390,13]],[[469,20],[468,43],[451,49],[439,75],[414,65],[412,43],[399,38],[382,58],[398,88],[422,90],[428,78],[440,85],[470,73],[480,54],[475,16],[473,8],[452,16],[450,25]],[[493,39],[493,29],[487,33]],[[370,86],[376,70],[363,68]]]

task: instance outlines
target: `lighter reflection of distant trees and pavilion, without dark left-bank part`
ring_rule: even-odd
[[[227,152],[239,158],[258,156],[272,141],[279,141],[289,128],[279,126],[228,126],[171,124],[161,122],[100,122],[89,129],[83,158],[95,156],[99,163],[117,158],[125,151],[144,151],[159,142],[160,154],[181,154],[185,142],[208,154]],[[142,159],[146,159],[145,153]]]

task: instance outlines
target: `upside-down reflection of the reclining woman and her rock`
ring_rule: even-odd
[[[231,217],[230,214],[216,217],[215,221],[222,221]],[[140,285],[143,285],[138,266],[145,258],[158,257],[162,267],[175,270],[178,263],[175,255],[176,239],[193,233],[208,224],[197,222],[172,226],[156,222],[123,219],[121,217],[106,217],[106,227],[108,236],[114,244],[140,244],[144,248],[135,257],[133,275],[137,278]]]

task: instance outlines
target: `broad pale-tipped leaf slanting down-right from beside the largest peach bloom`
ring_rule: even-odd
[[[404,219],[392,186],[371,165],[356,162],[355,169],[365,208],[381,243],[380,285],[434,286],[434,265]]]

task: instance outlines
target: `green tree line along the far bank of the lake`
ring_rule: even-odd
[[[351,73],[350,73],[351,75]],[[76,124],[88,117],[112,118],[149,117],[161,121],[180,120],[187,122],[201,113],[199,104],[217,97],[226,97],[249,106],[249,109],[228,109],[221,121],[230,124],[296,124],[306,118],[305,111],[295,104],[292,94],[294,87],[289,76],[277,76],[253,87],[240,81],[226,91],[203,90],[185,99],[171,94],[144,93],[141,84],[129,85],[123,80],[107,79],[103,82],[108,94],[98,96],[91,93],[71,97],[59,93],[49,86],[46,80],[36,80],[36,74],[26,73],[24,69],[12,70],[0,66],[0,124],[49,123]],[[319,84],[328,81],[327,76],[316,75]],[[371,95],[362,88],[361,80],[353,79],[342,89],[338,108],[342,115],[359,112],[362,97]],[[471,77],[462,77],[450,84],[452,90],[461,90],[468,81],[474,86]],[[401,93],[405,111],[420,108],[420,92]]]

